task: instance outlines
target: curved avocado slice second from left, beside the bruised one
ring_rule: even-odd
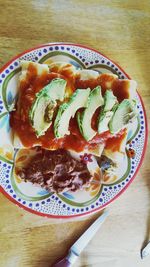
[[[75,116],[76,111],[79,108],[87,106],[88,96],[90,94],[90,88],[77,89],[71,96],[68,103],[64,103],[59,107],[55,122],[54,133],[57,138],[61,138],[66,134],[69,134],[69,122],[70,119]]]

